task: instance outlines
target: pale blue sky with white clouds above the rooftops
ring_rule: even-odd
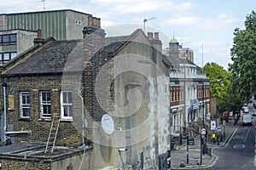
[[[0,14],[73,9],[101,19],[108,36],[129,35],[137,28],[160,32],[163,48],[175,37],[194,50],[194,62],[215,62],[228,69],[235,28],[256,7],[253,0],[0,0]],[[154,19],[152,19],[154,18]],[[144,19],[152,19],[143,22]]]

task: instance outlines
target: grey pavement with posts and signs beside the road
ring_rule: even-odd
[[[200,169],[206,167],[212,167],[218,160],[218,156],[214,155],[214,149],[217,147],[224,147],[225,144],[230,140],[231,136],[239,126],[239,121],[234,125],[233,120],[226,122],[224,129],[225,139],[216,142],[215,144],[207,141],[207,147],[212,148],[212,154],[201,155],[201,135],[195,136],[195,144],[189,145],[189,154],[187,154],[187,139],[183,139],[183,144],[175,144],[174,150],[171,151],[171,169]],[[223,133],[223,130],[222,132]],[[187,157],[189,157],[189,163],[187,163]],[[202,160],[202,161],[201,161]],[[201,161],[201,165],[200,165]],[[183,167],[180,165],[183,163]]]

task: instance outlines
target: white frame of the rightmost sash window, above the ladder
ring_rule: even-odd
[[[64,95],[67,94],[67,95]],[[71,96],[68,96],[71,95]],[[67,103],[64,103],[64,97],[66,97]],[[71,99],[69,101],[68,99]],[[67,116],[65,116],[65,109],[67,107]],[[71,114],[70,114],[71,111]],[[61,119],[73,120],[73,103],[72,103],[72,91],[61,91]]]

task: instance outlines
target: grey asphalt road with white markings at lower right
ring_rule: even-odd
[[[253,109],[248,105],[249,110]],[[256,169],[256,116],[253,117],[252,126],[243,126],[240,123],[236,132],[230,138],[230,142],[224,147],[214,150],[218,161],[211,168],[223,170]]]

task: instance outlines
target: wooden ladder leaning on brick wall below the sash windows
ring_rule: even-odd
[[[50,151],[50,153],[53,153],[53,150],[55,148],[55,141],[57,138],[57,133],[59,130],[60,126],[60,119],[58,117],[53,117],[52,122],[51,122],[51,127],[49,129],[49,136],[47,140],[47,144],[44,150],[44,154],[47,153],[47,151]]]

